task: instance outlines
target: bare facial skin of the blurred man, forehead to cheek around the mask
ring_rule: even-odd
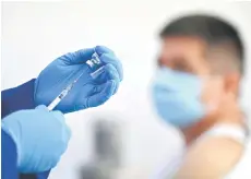
[[[216,108],[207,117],[216,115],[223,95],[229,88],[225,73],[214,73],[215,67],[222,65],[215,59],[208,59],[206,44],[195,37],[166,37],[163,40],[158,64],[172,70],[195,74],[203,80],[201,100],[208,108]],[[213,62],[216,61],[216,62]],[[220,61],[220,60],[218,60]],[[236,84],[235,84],[236,85]],[[230,85],[232,86],[232,84]]]

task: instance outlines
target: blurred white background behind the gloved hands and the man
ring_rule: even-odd
[[[251,2],[2,2],[1,11],[2,90],[36,77],[57,57],[81,48],[108,46],[123,63],[118,95],[101,107],[67,116],[72,140],[50,179],[148,178],[182,148],[179,133],[155,115],[151,103],[157,35],[175,16],[218,14],[239,27],[247,49],[251,46]],[[242,104],[251,106],[251,64],[246,67]]]

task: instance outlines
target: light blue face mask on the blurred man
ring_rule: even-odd
[[[206,114],[201,103],[202,80],[198,76],[162,68],[153,85],[153,98],[158,115],[172,126],[184,128]]]

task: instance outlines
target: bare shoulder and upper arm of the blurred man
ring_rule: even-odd
[[[239,160],[242,150],[240,143],[227,138],[201,141],[188,151],[176,179],[223,178]]]

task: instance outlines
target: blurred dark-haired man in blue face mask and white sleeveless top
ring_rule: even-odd
[[[186,148],[154,178],[224,178],[239,167],[247,139],[240,36],[219,17],[194,14],[170,22],[160,38],[153,98],[159,116],[182,132]]]

